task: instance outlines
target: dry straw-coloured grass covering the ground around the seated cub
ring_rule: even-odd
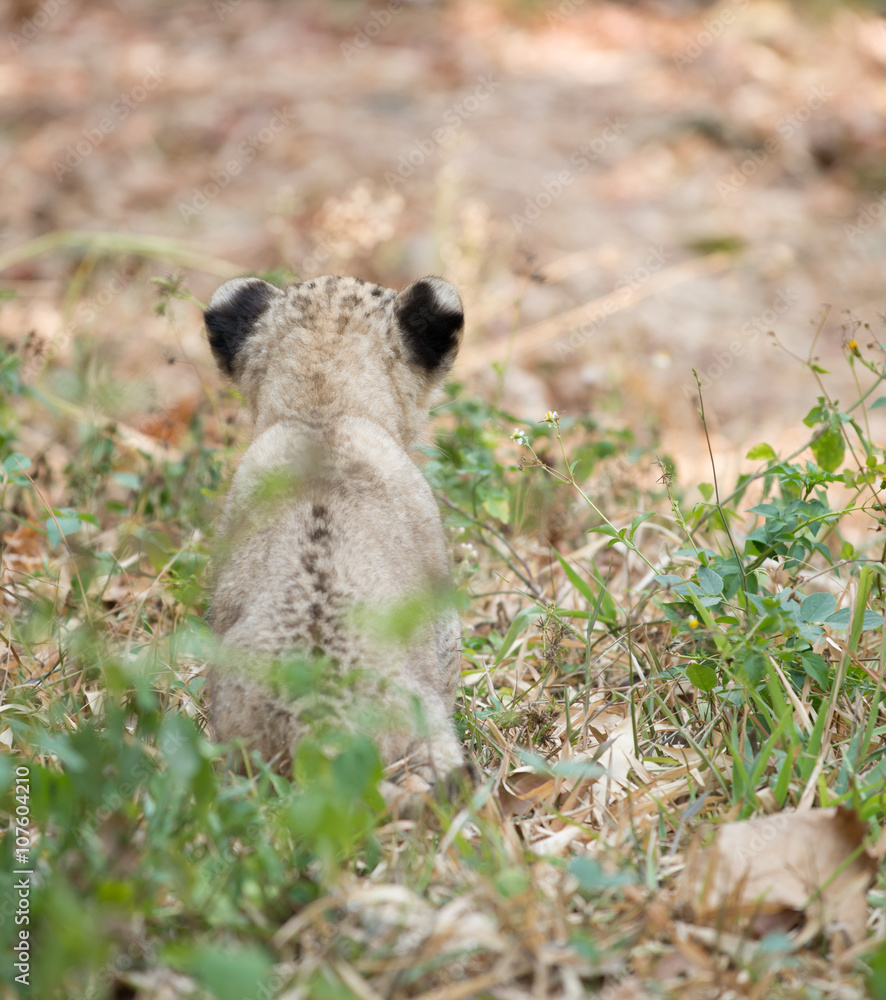
[[[50,366],[40,384],[51,385],[62,371]],[[41,428],[49,439],[60,411],[45,398],[20,394],[7,406],[25,439],[35,440]],[[63,768],[63,755],[28,747],[21,734],[101,725],[106,699],[115,697],[106,681],[115,657],[146,649],[159,654],[165,667],[151,687],[161,711],[184,712],[203,725],[203,692],[194,684],[202,663],[176,653],[169,638],[189,607],[199,606],[196,578],[179,569],[203,546],[197,515],[191,507],[184,514],[178,509],[184,494],[165,501],[162,494],[171,471],[190,462],[181,482],[193,503],[199,482],[218,481],[218,455],[228,453],[229,438],[229,425],[208,403],[166,414],[165,423],[154,421],[147,429],[91,420],[83,408],[61,412],[76,422],[51,448],[34,453],[26,482],[7,484],[13,498],[7,518],[17,523],[8,523],[3,536],[0,580],[7,618],[4,718],[27,724],[26,730],[7,728],[0,739],[51,770]],[[564,434],[567,449],[580,437],[578,431]],[[85,472],[78,438],[79,447],[105,465],[100,479],[75,498],[73,480]],[[535,445],[546,449],[551,468],[553,443]],[[507,463],[515,447],[502,435],[495,450]],[[63,464],[58,449],[68,450],[72,464]],[[260,921],[279,995],[287,984],[294,990],[287,996],[326,995],[325,989],[330,996],[434,1000],[581,997],[589,991],[607,998],[805,997],[810,989],[825,997],[864,995],[857,960],[871,948],[870,938],[847,938],[828,915],[810,934],[808,914],[790,908],[784,910],[787,922],[783,913],[762,941],[746,912],[734,926],[708,927],[695,922],[692,894],[687,901],[684,885],[681,898],[680,885],[687,851],[711,825],[754,811],[777,813],[782,806],[802,811],[846,801],[837,787],[840,763],[857,754],[852,741],[871,712],[877,735],[870,761],[882,747],[879,633],[863,633],[869,638],[850,648],[845,633],[828,631],[822,648],[836,669],[823,698],[809,677],[797,687],[773,659],[770,683],[790,705],[791,738],[808,735],[824,713],[823,738],[802,771],[805,780],[791,773],[776,791],[784,772],[782,757],[773,754],[739,793],[730,733],[757,729],[753,745],[759,747],[767,735],[765,718],[746,697],[729,700],[730,687],[741,690],[734,678],[726,681],[733,675],[724,674],[717,695],[687,679],[687,664],[698,658],[698,636],[663,616],[663,591],[653,580],[654,573],[681,565],[687,578],[692,573],[693,560],[680,550],[685,522],[672,507],[675,487],[665,491],[636,473],[632,481],[630,468],[618,457],[603,460],[577,485],[587,496],[605,498],[601,514],[616,527],[629,525],[638,508],[653,515],[631,545],[607,548],[605,536],[584,534],[589,512],[580,497],[567,495],[568,484],[552,494],[557,548],[598,595],[596,605],[544,540],[550,519],[546,527],[536,522],[534,532],[510,538],[502,533],[507,529],[483,518],[462,529],[459,572],[474,595],[464,617],[463,716],[481,786],[461,805],[431,807],[422,820],[381,826],[371,870],[358,856],[356,867],[343,859],[331,880],[320,880],[322,891],[313,901],[279,926]],[[137,476],[140,490],[129,488],[125,476],[121,482],[121,472]],[[546,475],[544,465],[522,473],[524,482]],[[618,499],[619,490],[625,499]],[[141,499],[133,507],[136,495]],[[75,499],[77,509],[95,513],[98,523],[84,524],[53,547],[40,527],[45,509],[58,511]],[[147,504],[154,505],[150,513]],[[50,520],[58,524],[59,516]],[[64,532],[64,525],[59,528]],[[722,533],[705,530],[694,536],[699,548],[723,545]],[[96,573],[90,556],[101,553],[108,554],[107,571]],[[30,624],[23,624],[28,614]],[[78,647],[84,630],[99,643],[92,653]],[[841,683],[852,668],[856,680]],[[873,686],[862,683],[865,677]],[[59,706],[65,706],[63,715]],[[772,749],[805,753],[791,738],[776,739]],[[862,773],[857,794],[865,788],[861,798],[875,824],[879,809],[871,811],[874,800],[866,798],[870,788]],[[127,851],[138,851],[141,822],[126,822]],[[873,849],[871,829],[864,826],[864,839]],[[113,865],[123,863],[119,847],[107,849]],[[248,842],[239,850],[248,851]],[[285,859],[283,864],[285,869]],[[861,905],[866,888],[867,880]],[[166,905],[186,912],[174,890]],[[866,905],[876,940],[886,930],[882,896],[870,895]],[[772,937],[776,932],[781,936]],[[149,954],[155,931],[133,933],[140,934],[142,954]],[[112,981],[129,984],[139,997],[190,995],[191,980],[167,963],[136,964],[136,971],[115,968]]]

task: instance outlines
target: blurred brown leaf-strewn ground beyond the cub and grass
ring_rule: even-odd
[[[738,471],[805,439],[810,352],[847,402],[853,352],[882,360],[874,7],[2,9],[0,340],[35,381],[104,372],[90,405],[139,434],[213,391],[198,302],[239,273],[443,274],[465,392],[630,428],[686,482],[710,478],[693,368]]]

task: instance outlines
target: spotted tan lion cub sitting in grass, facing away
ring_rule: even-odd
[[[205,322],[254,422],[215,559],[216,735],[291,774],[322,697],[275,684],[268,664],[313,658],[350,684],[325,708],[372,732],[391,765],[385,798],[427,790],[463,759],[459,635],[440,513],[409,449],[458,351],[458,292],[434,277],[399,294],[356,278],[285,292],[236,278]],[[403,609],[405,632],[385,628]]]

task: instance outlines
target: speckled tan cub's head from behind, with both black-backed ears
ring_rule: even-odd
[[[461,299],[443,278],[391,291],[323,277],[281,291],[234,278],[204,313],[219,368],[243,393],[256,431],[279,420],[342,416],[381,424],[405,444],[427,419],[464,329]]]

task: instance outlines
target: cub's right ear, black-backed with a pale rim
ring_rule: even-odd
[[[394,315],[413,363],[426,375],[442,378],[455,360],[465,325],[455,288],[443,278],[419,278],[397,296]]]

